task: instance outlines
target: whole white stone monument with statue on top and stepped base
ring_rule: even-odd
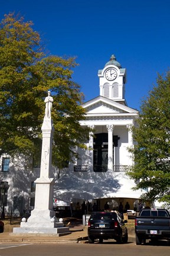
[[[53,186],[54,178],[50,178],[52,141],[54,126],[51,119],[53,97],[48,91],[45,102],[45,116],[42,123],[42,151],[40,178],[35,180],[35,207],[27,222],[22,219],[20,228],[14,228],[13,233],[46,233],[61,234],[70,233],[69,228],[64,227],[63,222],[58,222],[53,211]]]

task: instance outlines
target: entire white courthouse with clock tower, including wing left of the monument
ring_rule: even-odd
[[[73,209],[79,202],[89,201],[103,209],[109,202],[110,209],[126,201],[130,209],[138,208],[142,190],[133,191],[135,181],[126,175],[133,159],[128,148],[133,147],[131,127],[136,125],[139,118],[137,110],[128,107],[125,100],[126,69],[122,68],[116,57],[110,60],[98,71],[99,96],[83,104],[86,109],[86,120],[80,121],[81,126],[90,126],[86,142],[87,149],[75,149],[79,159],[74,159],[67,168],[51,170],[55,179],[54,199],[70,201]],[[7,159],[7,160],[6,160]],[[0,162],[1,188],[0,204],[5,205],[6,211],[30,210],[33,207],[35,190],[34,181],[40,175],[40,168],[29,167],[22,159],[9,163],[10,158],[3,156]],[[27,163],[28,164],[28,163]],[[31,164],[30,164],[31,168]]]

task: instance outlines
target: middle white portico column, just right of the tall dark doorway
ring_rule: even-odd
[[[108,130],[108,171],[113,171],[113,124],[106,126]]]

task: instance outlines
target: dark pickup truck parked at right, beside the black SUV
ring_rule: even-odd
[[[136,245],[146,239],[170,241],[170,215],[166,209],[142,209],[135,219]]]

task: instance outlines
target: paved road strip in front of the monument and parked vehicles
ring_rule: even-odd
[[[169,246],[160,244],[136,245],[116,244],[116,242],[103,242],[103,244],[0,244],[0,256],[169,256]]]

